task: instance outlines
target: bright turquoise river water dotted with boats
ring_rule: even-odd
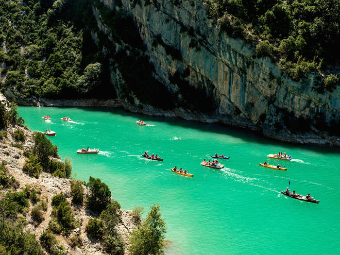
[[[340,153],[328,148],[289,145],[219,125],[146,117],[118,109],[19,107],[32,130],[50,137],[59,154],[73,162],[76,177],[101,178],[122,208],[158,202],[168,226],[166,254],[340,254]],[[51,115],[51,122],[41,116]],[[60,118],[70,116],[72,123]],[[138,126],[144,119],[154,126]],[[174,137],[181,137],[175,140]],[[100,154],[77,154],[99,148]],[[148,151],[164,158],[149,161]],[[291,162],[266,157],[278,151]],[[223,170],[200,166],[224,153]],[[287,171],[258,166],[265,160]],[[182,167],[188,178],[170,171]],[[280,194],[310,192],[320,204]]]

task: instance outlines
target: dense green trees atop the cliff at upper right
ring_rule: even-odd
[[[306,73],[333,72],[339,65],[338,0],[204,0],[221,31],[257,42],[258,57],[269,56],[294,80]],[[335,82],[334,82],[335,78]],[[324,82],[339,85],[337,77]]]

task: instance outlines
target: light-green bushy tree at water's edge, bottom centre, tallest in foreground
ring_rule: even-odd
[[[132,233],[129,251],[133,255],[163,254],[164,234],[167,228],[160,210],[159,204],[153,204],[146,220]]]

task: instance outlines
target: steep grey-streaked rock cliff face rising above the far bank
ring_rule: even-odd
[[[94,41],[109,42],[102,51],[126,109],[340,146],[340,86],[320,94],[313,75],[300,82],[286,78],[270,59],[256,58],[254,47],[221,33],[202,0],[93,0],[92,9]]]

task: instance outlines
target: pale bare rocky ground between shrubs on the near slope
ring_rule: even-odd
[[[0,94],[1,95],[1,94]],[[5,101],[5,98],[1,95],[0,101]],[[0,103],[1,103],[0,102]],[[22,148],[14,147],[15,140],[12,137],[12,132],[21,129],[25,134],[25,141],[22,142]],[[37,239],[39,239],[42,232],[49,227],[49,222],[51,221],[51,198],[59,193],[63,193],[69,204],[72,208],[72,213],[74,214],[74,218],[81,222],[81,226],[73,229],[71,233],[67,236],[65,235],[56,235],[57,240],[62,244],[67,254],[71,255],[79,255],[79,254],[92,254],[92,255],[102,255],[105,254],[102,252],[102,244],[100,241],[95,240],[89,237],[86,234],[85,228],[87,222],[92,219],[96,218],[86,207],[85,204],[77,205],[72,204],[71,202],[71,186],[70,182],[71,179],[67,178],[59,178],[52,176],[50,173],[42,172],[39,178],[34,178],[28,174],[25,174],[22,170],[23,164],[25,162],[24,150],[31,148],[33,145],[33,133],[27,128],[24,128],[19,125],[9,125],[7,127],[7,136],[0,140],[0,159],[1,161],[6,161],[6,167],[8,169],[8,173],[13,175],[17,180],[18,187],[16,191],[21,191],[27,185],[30,187],[34,187],[35,190],[38,190],[41,194],[41,198],[46,200],[47,203],[47,210],[43,212],[44,220],[40,223],[34,221],[31,217],[31,210],[33,205],[31,204],[24,214],[26,220],[26,226],[24,227],[25,230],[30,231],[33,233]],[[85,194],[89,192],[88,187],[84,187]],[[9,191],[10,189],[2,189],[2,191]],[[132,211],[127,211],[120,209],[121,211],[121,221],[116,225],[115,229],[123,239],[125,249],[124,254],[129,254],[127,247],[129,245],[128,240],[129,237],[136,228],[136,222],[131,215]],[[74,236],[79,236],[82,240],[80,246],[73,246],[71,245],[71,238]]]

